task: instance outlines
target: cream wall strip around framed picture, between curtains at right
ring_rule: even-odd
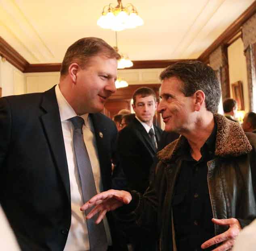
[[[245,105],[245,111],[248,112],[249,100],[246,57],[243,53],[243,41],[241,38],[237,39],[237,41],[235,41],[228,47],[228,59],[231,97],[233,97],[231,84],[240,80],[243,83],[243,100]]]

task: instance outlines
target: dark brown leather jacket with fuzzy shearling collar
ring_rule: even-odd
[[[216,114],[214,119],[216,158],[208,162],[207,175],[212,212],[218,219],[237,218],[243,227],[256,218],[256,135],[245,135],[237,123],[222,115]],[[136,222],[156,230],[159,251],[176,250],[172,196],[181,165],[176,158],[176,152],[182,149],[181,137],[157,153],[155,180],[144,195],[132,191],[131,203],[120,209],[127,225]],[[226,227],[215,226],[216,235],[225,230]]]

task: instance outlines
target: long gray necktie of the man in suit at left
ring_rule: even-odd
[[[97,194],[95,187],[94,177],[92,173],[92,166],[90,158],[84,144],[84,137],[82,126],[84,125],[84,119],[82,117],[72,117],[69,119],[74,125],[73,144],[76,156],[76,163],[78,167],[78,173],[80,176],[82,195],[84,203],[90,200]],[[86,214],[91,209],[86,210]],[[107,250],[107,236],[104,228],[103,221],[98,225],[95,224],[97,215],[87,221],[87,229],[90,243],[90,251],[106,251]]]

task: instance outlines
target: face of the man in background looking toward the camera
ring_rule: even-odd
[[[152,95],[141,97],[136,95],[136,103],[132,105],[138,119],[145,123],[152,123],[156,110],[156,102]]]

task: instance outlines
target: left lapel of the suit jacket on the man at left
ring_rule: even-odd
[[[44,93],[41,107],[46,111],[41,117],[46,139],[70,201],[69,172],[55,86]]]

